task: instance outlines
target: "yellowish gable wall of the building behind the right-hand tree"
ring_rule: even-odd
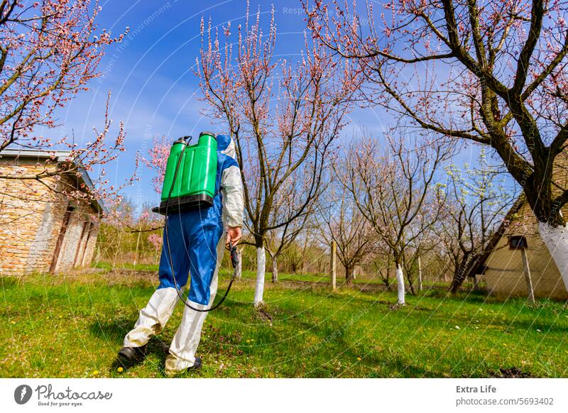
[[[563,209],[564,216],[568,214],[566,209]],[[560,272],[538,234],[537,221],[530,206],[525,203],[517,215],[486,261],[482,279],[486,281],[488,293],[503,298],[528,296],[521,252],[508,246],[509,236],[523,235],[527,238],[526,253],[535,297],[568,299]]]

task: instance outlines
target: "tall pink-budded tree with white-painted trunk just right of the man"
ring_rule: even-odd
[[[324,164],[345,123],[358,87],[349,62],[337,62],[327,48],[305,40],[300,61],[273,55],[274,11],[263,33],[260,12],[239,25],[233,48],[230,26],[225,43],[202,23],[198,59],[207,114],[227,128],[236,143],[244,182],[246,225],[257,251],[255,304],[263,302],[266,236],[302,219],[320,194]],[[236,51],[234,55],[234,51]],[[288,182],[300,185],[293,211],[275,215],[275,199]]]

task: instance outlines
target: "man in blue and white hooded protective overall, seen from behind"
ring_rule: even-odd
[[[158,270],[160,284],[148,305],[140,310],[134,328],[124,337],[124,347],[119,351],[119,359],[125,364],[143,360],[151,336],[163,330],[175,304],[180,300],[175,290],[172,271],[181,291],[187,283],[188,272],[191,273],[188,299],[192,307],[207,309],[213,304],[225,245],[228,245],[229,241],[233,245],[239,242],[243,225],[241,171],[230,136],[217,136],[217,154],[216,195],[213,205],[168,214],[169,240],[166,239],[164,231]],[[195,356],[195,351],[200,343],[206,316],[207,312],[196,312],[185,306],[181,324],[175,332],[170,353],[165,360],[166,375],[201,367],[201,358]]]

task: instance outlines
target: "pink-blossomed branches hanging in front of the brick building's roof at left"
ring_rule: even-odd
[[[109,142],[108,100],[103,127],[95,129],[94,138],[85,145],[68,136],[58,141],[38,136],[40,128],[57,126],[55,110],[87,89],[88,82],[99,75],[97,66],[105,47],[122,38],[112,38],[104,30],[96,35],[98,13],[98,2],[89,0],[0,1],[0,151],[70,150],[57,168],[50,167],[54,156],[38,173],[16,172],[0,179],[38,181],[66,197],[86,201],[118,196],[119,188],[109,185],[104,165],[124,152],[124,129],[120,124],[116,138]],[[61,180],[94,170],[100,171],[94,191]]]

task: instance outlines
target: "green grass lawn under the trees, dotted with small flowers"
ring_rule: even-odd
[[[568,376],[565,302],[530,306],[436,289],[391,309],[395,292],[366,290],[364,280],[332,293],[323,276],[281,275],[273,285],[267,274],[258,312],[253,277],[246,272],[209,314],[197,353],[204,366],[182,377]],[[119,372],[116,363],[157,281],[139,269],[1,277],[0,377],[164,377],[182,304],[141,365]]]

